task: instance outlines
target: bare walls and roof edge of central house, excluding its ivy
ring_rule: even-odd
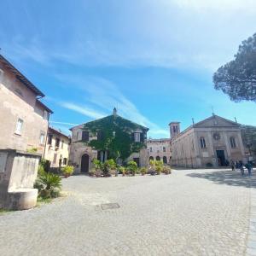
[[[109,115],[103,119],[92,121],[90,123],[105,121],[115,122],[117,125],[119,125],[119,123],[122,125],[127,125],[127,128],[131,125],[137,127],[134,131],[131,131],[131,139],[136,143],[146,142],[148,128],[144,127],[143,125],[137,125],[130,120],[123,119],[117,115],[115,109],[112,115]],[[108,160],[108,152],[96,151],[87,145],[87,143],[91,140],[101,140],[102,131],[98,131],[96,134],[92,134],[90,131],[84,130],[84,125],[86,124],[77,125],[70,129],[72,131],[72,137],[69,159],[75,167],[75,173],[89,172],[93,159],[98,159],[101,161]],[[148,164],[146,143],[144,148],[140,149],[139,152],[132,153],[130,157],[126,159],[126,161],[129,160],[135,160],[138,166],[146,166]]]

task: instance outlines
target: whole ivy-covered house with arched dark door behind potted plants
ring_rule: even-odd
[[[75,173],[89,172],[92,160],[108,159],[119,164],[134,160],[138,166],[148,165],[148,128],[113,114],[82,125],[74,126],[70,145],[70,164]]]

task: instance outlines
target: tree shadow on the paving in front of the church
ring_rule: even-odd
[[[253,172],[251,177],[247,176],[247,171],[245,171],[245,176],[241,177],[240,171],[216,171],[216,172],[204,172],[204,173],[189,173],[189,177],[199,177],[205,178],[213,183],[226,184],[230,186],[242,186],[246,188],[256,188],[256,172]]]

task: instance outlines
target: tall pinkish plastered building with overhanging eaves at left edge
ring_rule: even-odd
[[[0,148],[44,153],[49,114],[44,93],[0,55]]]

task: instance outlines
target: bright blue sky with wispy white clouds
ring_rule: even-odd
[[[214,112],[256,125],[253,102],[230,102],[212,73],[256,32],[254,0],[3,0],[1,53],[44,91],[51,125],[112,113],[168,137]]]

